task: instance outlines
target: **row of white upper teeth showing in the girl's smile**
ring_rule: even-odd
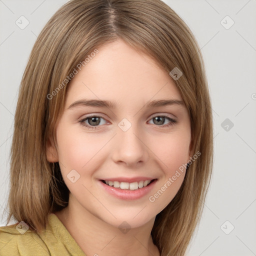
[[[123,182],[123,181],[117,181],[117,180],[104,180],[100,179],[100,181],[108,186],[124,189],[124,190],[139,190],[143,187],[148,186],[152,182],[157,180],[157,178],[154,179],[147,179],[147,180],[140,180],[135,182]]]

